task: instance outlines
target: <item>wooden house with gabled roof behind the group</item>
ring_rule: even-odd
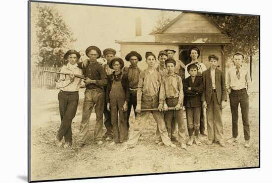
[[[199,61],[208,68],[208,56],[215,54],[219,57],[220,69],[225,71],[224,47],[229,44],[229,38],[220,27],[201,13],[182,12],[162,29],[149,35],[136,35],[138,36],[115,42],[120,44],[122,59],[125,60],[125,56],[131,51],[136,51],[142,56],[143,61],[138,63],[141,69],[146,68],[144,56],[147,51],[157,56],[161,50],[172,48],[177,51],[174,59],[187,64],[190,62],[187,50],[196,45],[201,50]]]

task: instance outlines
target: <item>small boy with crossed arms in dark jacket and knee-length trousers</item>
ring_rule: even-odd
[[[201,93],[203,92],[202,78],[197,76],[198,67],[195,63],[188,65],[188,72],[190,74],[184,80],[183,91],[184,106],[186,110],[187,127],[189,133],[189,141],[187,145],[192,146],[193,141],[197,145],[201,145],[198,139],[199,134],[199,121],[200,121],[200,110],[201,110]],[[195,139],[193,139],[193,132]]]

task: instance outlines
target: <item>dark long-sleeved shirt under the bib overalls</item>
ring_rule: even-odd
[[[111,91],[111,86],[112,83],[114,81],[113,79],[113,74],[115,71],[113,71],[112,74],[108,75],[108,83],[107,83],[107,90],[106,90],[106,97],[105,97],[105,103],[109,103],[110,102],[110,91]],[[126,73],[123,73],[122,71],[120,72],[120,75],[122,75],[122,79],[121,79],[121,83],[122,83],[122,87],[123,90],[125,91],[125,99],[127,102],[130,101],[130,88],[129,88],[129,79],[128,79],[128,75]],[[116,95],[119,95],[118,93]]]

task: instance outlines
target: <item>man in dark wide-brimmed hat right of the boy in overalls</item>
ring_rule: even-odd
[[[139,81],[139,74],[141,70],[138,68],[137,64],[138,61],[141,61],[142,58],[140,54],[138,54],[135,51],[131,51],[128,55],[125,57],[126,61],[130,61],[131,64],[129,67],[124,67],[124,73],[126,72],[128,74],[129,79],[129,89],[130,89],[130,100],[128,103],[128,118],[127,118],[127,126],[128,129],[130,127],[130,115],[131,115],[131,108],[133,106],[134,114],[136,118],[136,106],[137,106],[137,89],[138,89],[138,81]]]

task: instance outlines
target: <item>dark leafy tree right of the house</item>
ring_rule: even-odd
[[[226,46],[226,55],[231,58],[236,51],[245,54],[246,62],[250,63],[259,54],[259,16],[206,14],[220,28],[226,31],[230,44]]]

